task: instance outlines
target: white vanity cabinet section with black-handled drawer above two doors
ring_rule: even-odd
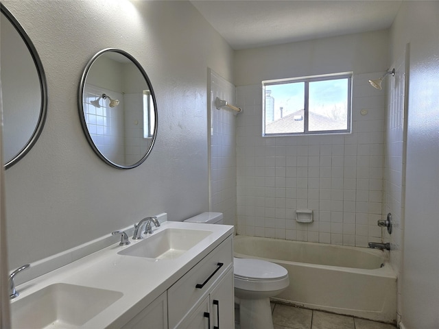
[[[169,329],[235,326],[232,236],[168,289],[167,303]]]

